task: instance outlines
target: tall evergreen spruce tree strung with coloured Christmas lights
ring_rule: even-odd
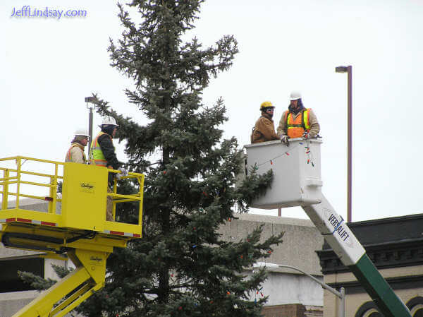
[[[217,233],[233,219],[235,203],[247,210],[272,175],[252,171],[234,186],[243,153],[235,138],[222,140],[223,100],[206,107],[202,91],[230,68],[238,47],[233,36],[206,49],[197,38],[183,42],[202,2],[118,5],[124,31],[117,44],[111,40],[111,65],[133,78],[135,89],[126,95],[149,123],[140,126],[102,100],[97,109],[117,119],[128,168],[146,176],[143,237],[109,257],[104,289],[80,307],[87,317],[260,316],[266,301],[250,301],[266,273],[243,272],[269,256],[281,235],[261,241],[259,227],[242,241],[223,241]],[[126,205],[118,217],[133,221],[132,209]]]

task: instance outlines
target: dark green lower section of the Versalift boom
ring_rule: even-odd
[[[407,306],[396,296],[367,254],[349,268],[385,317],[411,317]]]

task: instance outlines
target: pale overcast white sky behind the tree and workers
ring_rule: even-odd
[[[204,104],[223,97],[225,136],[240,145],[249,143],[261,102],[276,105],[277,126],[290,91],[302,92],[321,124],[324,194],[344,217],[347,76],[335,67],[353,66],[353,221],[423,210],[423,2],[368,3],[209,0],[189,35],[205,46],[226,34],[238,40],[233,67],[211,81]],[[11,17],[22,6],[87,16]],[[132,82],[109,66],[109,37],[122,31],[117,13],[114,1],[1,1],[0,157],[63,160],[73,131],[87,126],[84,97],[92,92],[145,122],[123,93]],[[282,213],[307,217],[300,208]]]

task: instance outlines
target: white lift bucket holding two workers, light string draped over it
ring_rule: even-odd
[[[251,206],[276,209],[320,203],[320,144],[319,139],[295,138],[289,146],[280,140],[245,145],[247,172],[254,168],[264,174],[273,169],[274,174],[271,187]]]

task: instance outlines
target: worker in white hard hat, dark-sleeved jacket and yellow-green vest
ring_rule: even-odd
[[[115,148],[113,145],[113,138],[116,135],[118,124],[113,116],[104,116],[102,131],[97,134],[96,138],[92,140],[90,151],[90,162],[92,165],[107,167],[109,169],[119,169],[122,174],[128,174],[125,169],[121,167],[121,162],[116,157]],[[109,181],[107,191],[111,193],[111,186],[114,184],[115,173],[109,173]],[[113,199],[107,196],[106,203],[106,220],[114,221],[113,219]]]

